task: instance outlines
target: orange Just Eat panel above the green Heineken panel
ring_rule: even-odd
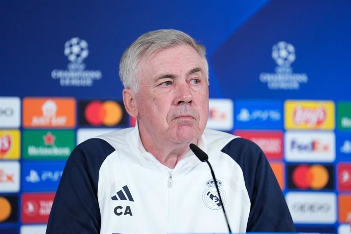
[[[24,98],[23,127],[74,128],[74,98]]]

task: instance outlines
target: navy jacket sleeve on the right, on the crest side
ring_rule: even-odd
[[[284,195],[262,150],[244,138],[233,139],[223,148],[242,168],[251,208],[248,232],[295,232]]]

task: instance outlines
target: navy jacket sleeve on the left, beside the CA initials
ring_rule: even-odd
[[[52,204],[46,233],[99,233],[99,169],[114,149],[106,141],[79,144],[67,160]]]

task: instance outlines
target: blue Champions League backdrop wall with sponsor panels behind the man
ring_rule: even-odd
[[[0,233],[44,233],[75,145],[135,124],[119,60],[159,28],[207,46],[208,127],[260,145],[297,230],[350,233],[350,1],[0,5]]]

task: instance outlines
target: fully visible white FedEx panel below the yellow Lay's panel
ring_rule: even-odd
[[[334,132],[287,131],[284,152],[291,162],[333,162],[335,160]]]

